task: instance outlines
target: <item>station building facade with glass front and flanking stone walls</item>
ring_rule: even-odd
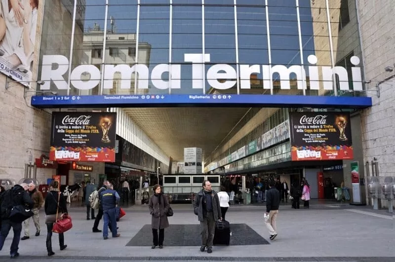
[[[25,65],[30,60],[23,56],[20,64],[2,62],[12,69],[9,76],[0,75],[7,120],[0,134],[3,147],[14,153],[1,155],[0,176],[22,178],[24,164],[48,152],[51,111],[31,108],[30,96],[51,92],[149,99],[161,94],[371,96],[373,107],[350,111],[353,160],[316,161],[281,172],[314,177],[328,171],[328,177],[351,188],[351,162],[358,161],[363,178],[364,163],[374,160],[380,175],[390,175],[394,5],[368,0],[40,1],[29,20],[31,29],[36,27],[33,54],[22,33],[14,37],[21,39],[14,49],[3,48],[9,55],[4,61],[13,62],[13,52],[21,48],[33,59],[31,74]],[[21,80],[29,74],[30,80]],[[94,110],[117,112],[118,136],[166,169],[169,156],[128,117],[127,109]],[[289,113],[296,111],[334,110],[253,108],[217,150],[204,155],[205,171],[276,173],[275,164],[290,161]],[[103,163],[92,165],[95,176],[105,173]],[[339,165],[341,171],[332,169]],[[40,169],[37,176],[43,181],[58,172]]]

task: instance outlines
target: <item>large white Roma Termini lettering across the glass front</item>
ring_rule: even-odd
[[[204,59],[203,59],[204,57]],[[263,75],[263,89],[271,89],[273,81],[271,75],[278,74],[280,78],[281,89],[291,89],[290,75],[295,74],[297,79],[297,88],[307,89],[306,70],[308,70],[310,89],[319,90],[320,83],[324,90],[333,90],[333,75],[337,75],[339,79],[340,90],[350,90],[349,75],[344,67],[328,67],[317,66],[317,57],[310,55],[308,57],[310,65],[299,66],[292,65],[286,67],[284,65],[239,65],[240,89],[250,89],[251,74]],[[237,69],[229,64],[214,64],[208,68],[207,74],[204,74],[204,64],[210,62],[210,54],[184,54],[184,62],[192,64],[192,88],[203,88],[203,75],[206,77],[210,87],[219,90],[227,90],[234,87],[237,83]],[[355,67],[351,69],[353,90],[362,91],[362,77],[359,65],[359,58],[353,56],[350,59],[351,64]],[[104,74],[103,88],[112,89],[113,81],[116,74],[120,74],[120,88],[130,89],[133,73],[138,74],[137,86],[139,89],[148,89],[151,79],[154,87],[164,90],[181,89],[181,79],[190,79],[191,75],[181,75],[181,64],[158,64],[152,71],[144,64],[136,64],[129,66],[126,64],[104,65],[102,72],[95,65],[79,65],[71,72],[71,85],[79,90],[90,90],[96,87]],[[62,55],[44,55],[42,57],[41,80],[45,83],[41,86],[41,90],[50,90],[50,83],[59,90],[67,90],[68,82],[65,79],[69,70],[69,60]],[[86,74],[88,73],[88,74]],[[163,74],[170,75],[170,83],[162,79]],[[84,75],[82,77],[82,75]],[[90,75],[86,79],[86,75]],[[320,77],[321,76],[321,79]],[[51,81],[50,81],[51,80]],[[133,79],[134,80],[134,79]],[[224,81],[227,80],[227,81]]]

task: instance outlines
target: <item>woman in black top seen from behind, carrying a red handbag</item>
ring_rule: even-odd
[[[66,213],[67,214],[67,205],[66,205],[66,199],[63,196],[61,192],[59,192],[59,182],[57,181],[52,181],[52,183],[49,185],[49,192],[45,197],[45,205],[44,205],[44,210],[45,210],[45,224],[47,228],[47,234],[46,234],[46,250],[48,251],[48,257],[55,255],[55,253],[52,251],[52,228],[53,224],[56,222],[56,212],[58,210],[58,205],[59,205],[59,212],[58,212],[58,217]],[[59,203],[58,203],[59,199]],[[63,233],[59,233],[59,246],[60,250],[64,250],[67,248],[67,245],[65,245],[65,238]]]

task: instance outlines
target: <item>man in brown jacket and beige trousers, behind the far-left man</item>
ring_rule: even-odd
[[[42,193],[37,190],[36,185],[32,182],[28,186],[28,192],[29,196],[32,198],[34,205],[33,205],[33,223],[36,227],[36,236],[40,235],[40,209],[42,205],[44,204],[44,198],[42,197]],[[26,240],[30,238],[30,233],[29,233],[29,225],[30,225],[30,218],[25,220],[23,222],[24,227],[25,227],[25,235],[21,238],[21,240]]]

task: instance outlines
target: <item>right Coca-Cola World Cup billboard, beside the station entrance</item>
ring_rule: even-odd
[[[353,159],[350,113],[289,113],[292,161]]]

